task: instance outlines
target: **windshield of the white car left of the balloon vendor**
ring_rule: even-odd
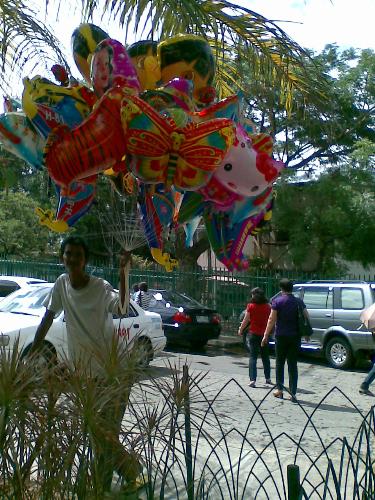
[[[0,302],[0,312],[41,316],[45,312],[43,302],[50,290],[42,286],[17,290]]]

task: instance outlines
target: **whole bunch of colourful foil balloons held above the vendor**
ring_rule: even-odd
[[[58,83],[24,78],[22,102],[5,99],[0,142],[48,170],[58,207],[39,221],[64,232],[95,199],[98,175],[136,197],[153,258],[168,271],[166,232],[183,226],[186,245],[204,223],[212,250],[229,270],[249,265],[246,240],[271,218],[272,185],[284,167],[272,138],[242,114],[241,98],[216,99],[209,43],[181,34],[125,47],[93,24],[72,35],[85,81],[51,68]],[[119,229],[120,230],[120,229]]]

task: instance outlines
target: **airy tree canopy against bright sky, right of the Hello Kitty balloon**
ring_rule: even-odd
[[[327,100],[307,102],[300,93],[290,114],[278,104],[280,89],[253,78],[250,68],[248,115],[276,138],[279,159],[294,170],[341,165],[358,140],[375,142],[375,53],[328,45],[313,64],[328,75]]]

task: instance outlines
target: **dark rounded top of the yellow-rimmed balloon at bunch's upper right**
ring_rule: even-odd
[[[158,52],[161,69],[180,61],[195,61],[194,69],[202,78],[208,77],[207,84],[211,85],[215,75],[215,59],[209,43],[204,38],[178,35],[161,42]]]

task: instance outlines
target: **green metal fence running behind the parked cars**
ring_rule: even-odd
[[[117,269],[89,265],[88,271],[118,287]],[[58,263],[0,259],[0,274],[8,276],[30,276],[53,282],[62,272],[64,267]],[[140,281],[146,281],[149,288],[168,288],[186,293],[199,302],[217,309],[224,320],[224,333],[235,334],[238,329],[238,316],[249,300],[250,290],[259,286],[265,290],[268,297],[272,297],[278,291],[278,282],[282,277],[296,281],[329,278],[375,281],[374,275],[334,277],[284,270],[231,273],[219,269],[199,271],[177,269],[173,273],[167,273],[160,268],[147,270],[133,268],[130,272],[130,284],[132,286]]]

